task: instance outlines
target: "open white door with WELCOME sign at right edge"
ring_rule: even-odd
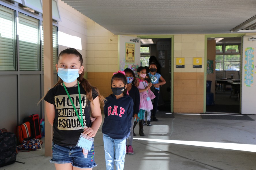
[[[256,114],[255,93],[256,75],[255,57],[256,36],[244,36],[242,60],[242,114]]]

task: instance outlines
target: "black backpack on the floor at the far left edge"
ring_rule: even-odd
[[[16,136],[6,129],[0,130],[0,167],[16,161]]]

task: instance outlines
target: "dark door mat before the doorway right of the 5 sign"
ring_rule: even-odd
[[[201,114],[202,119],[253,120],[247,115]]]

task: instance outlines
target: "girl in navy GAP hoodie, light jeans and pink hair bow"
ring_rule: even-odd
[[[106,97],[102,125],[106,169],[124,169],[125,139],[130,135],[133,100],[126,95],[127,79],[124,71],[114,73],[111,79],[113,94]]]

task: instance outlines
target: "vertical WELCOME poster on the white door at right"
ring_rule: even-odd
[[[244,84],[247,87],[253,85],[253,60],[254,60],[254,48],[245,49],[245,64],[244,64]]]

